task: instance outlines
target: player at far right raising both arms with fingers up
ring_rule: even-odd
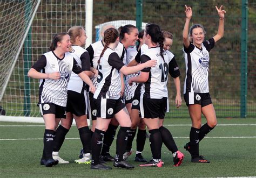
[[[210,161],[199,155],[199,141],[203,139],[217,124],[215,110],[208,87],[209,52],[224,35],[223,6],[215,6],[219,14],[219,28],[214,37],[205,41],[205,30],[200,24],[194,24],[188,30],[192,17],[192,8],[185,5],[186,22],[183,29],[184,53],[186,62],[186,79],[184,98],[190,113],[192,127],[190,142],[184,148],[191,154],[191,162],[208,163]],[[189,32],[189,34],[188,34]],[[207,123],[201,126],[201,113]]]

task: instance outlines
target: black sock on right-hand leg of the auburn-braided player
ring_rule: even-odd
[[[131,127],[120,127],[117,134],[117,151],[116,151],[116,161],[123,161],[123,155],[128,140],[128,133]]]

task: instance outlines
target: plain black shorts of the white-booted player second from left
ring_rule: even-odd
[[[87,115],[87,94],[86,91],[79,94],[76,91],[68,90],[68,102],[66,112],[71,112],[76,116]]]

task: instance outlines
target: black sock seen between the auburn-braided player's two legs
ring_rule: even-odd
[[[114,136],[116,136],[117,127],[118,126],[110,124],[109,128],[107,128],[107,131],[104,135],[104,140],[103,140],[102,155],[109,154],[110,146],[113,143]]]

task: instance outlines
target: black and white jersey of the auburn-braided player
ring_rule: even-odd
[[[110,99],[119,99],[121,91],[120,68],[124,63],[120,60],[118,54],[111,48],[107,48],[100,59],[98,69],[98,85],[93,95],[97,99],[102,96]]]

